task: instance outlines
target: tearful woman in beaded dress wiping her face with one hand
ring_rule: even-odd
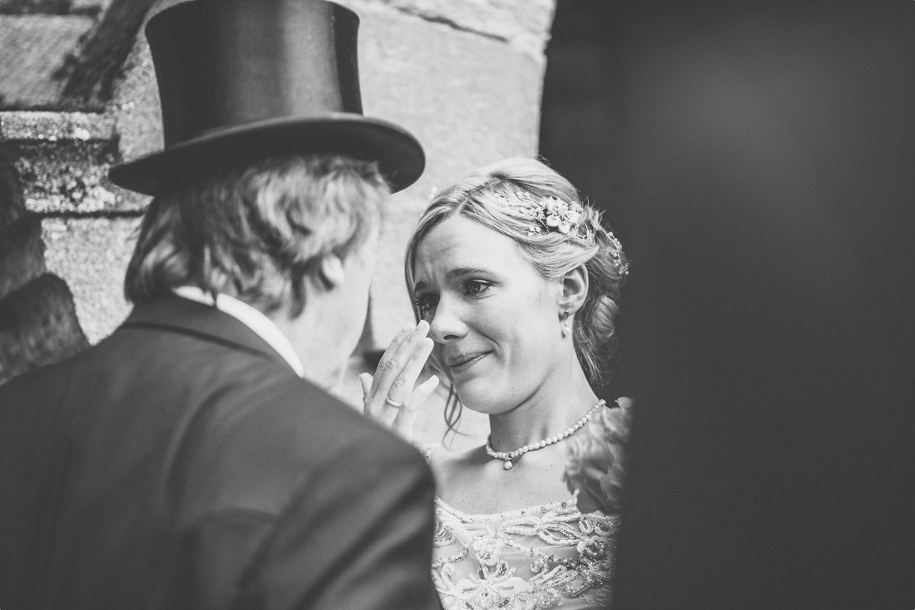
[[[566,445],[617,406],[594,388],[627,271],[597,210],[533,159],[484,167],[419,220],[406,255],[418,324],[361,380],[366,412],[407,437],[439,376],[447,413],[489,415],[483,446],[427,452],[445,608],[608,605],[619,516],[580,513],[563,472]],[[427,359],[438,375],[414,387]]]

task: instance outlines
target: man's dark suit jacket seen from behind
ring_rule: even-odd
[[[168,296],[0,387],[0,608],[434,608],[433,479]]]

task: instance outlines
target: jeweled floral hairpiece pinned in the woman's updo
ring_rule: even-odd
[[[592,228],[593,221],[587,219],[585,209],[577,201],[569,203],[560,198],[546,197],[535,201],[530,193],[522,190],[513,190],[511,197],[494,193],[502,206],[509,209],[518,209],[519,212],[531,219],[538,220],[536,224],[528,226],[529,236],[545,235],[551,230],[583,241],[588,246],[594,245],[597,227]],[[603,230],[600,228],[599,230]],[[619,273],[629,273],[629,263],[622,260],[622,244],[611,231],[607,233],[608,241],[613,246],[610,256],[616,263]]]

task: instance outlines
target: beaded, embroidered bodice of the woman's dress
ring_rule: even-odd
[[[468,515],[436,498],[432,578],[446,610],[608,607],[618,527],[575,499]]]

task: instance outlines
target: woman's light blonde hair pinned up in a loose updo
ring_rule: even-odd
[[[532,231],[532,219],[507,209],[506,199],[516,193],[534,201],[558,199],[581,206],[576,230]],[[572,337],[576,356],[593,387],[608,384],[607,360],[619,311],[619,291],[629,263],[613,233],[601,224],[601,212],[581,200],[576,187],[554,169],[530,158],[512,157],[480,168],[437,193],[425,209],[407,246],[404,273],[407,290],[414,289],[416,250],[425,235],[453,216],[464,216],[495,230],[518,244],[522,256],[547,281],[558,281],[584,265],[588,273],[585,303],[573,317]],[[581,232],[577,228],[584,228]],[[589,233],[584,239],[585,231]],[[414,309],[417,320],[418,309]],[[448,428],[453,429],[460,412],[452,390],[446,409]]]

